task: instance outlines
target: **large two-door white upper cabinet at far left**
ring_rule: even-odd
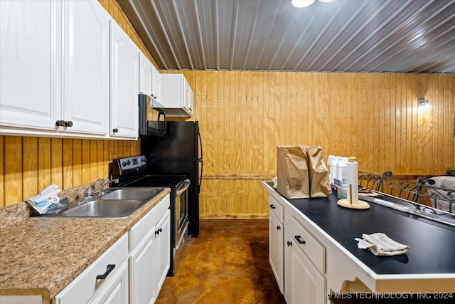
[[[107,137],[107,11],[98,1],[0,6],[0,131]]]

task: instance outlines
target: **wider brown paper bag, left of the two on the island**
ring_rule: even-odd
[[[277,191],[287,199],[310,197],[306,146],[277,147]]]

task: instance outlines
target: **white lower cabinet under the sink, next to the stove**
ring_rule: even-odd
[[[155,303],[170,266],[169,195],[129,231],[129,303]]]

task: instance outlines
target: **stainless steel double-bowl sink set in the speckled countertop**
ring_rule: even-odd
[[[36,216],[80,217],[80,218],[122,218],[127,217],[164,189],[162,188],[109,188],[103,194],[90,196],[77,203],[68,204],[68,209],[53,215]]]

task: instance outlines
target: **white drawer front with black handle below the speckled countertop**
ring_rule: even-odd
[[[87,303],[97,292],[98,288],[108,284],[119,271],[119,266],[128,256],[128,234],[124,234],[114,245],[96,259],[77,278],[55,296],[56,304]],[[107,272],[107,265],[114,265],[112,273],[105,280],[98,280],[97,276]]]

